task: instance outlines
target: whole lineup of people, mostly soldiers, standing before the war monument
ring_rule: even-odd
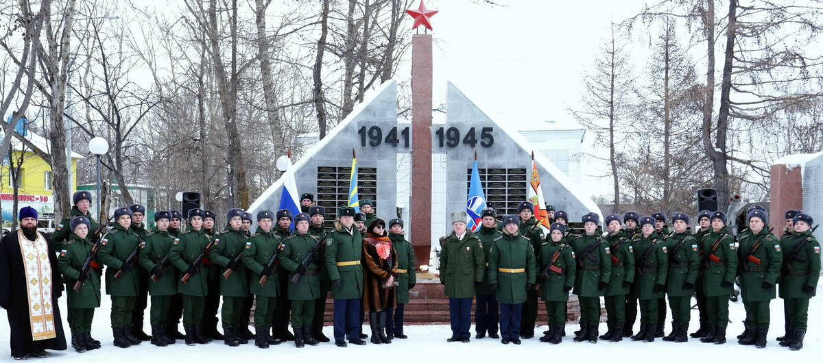
[[[78,191],[73,203],[49,243],[39,232],[30,231],[37,218],[33,209],[21,209],[21,221],[26,218],[26,223],[14,237],[43,250],[45,260],[56,255],[51,262],[52,280],[65,284],[67,321],[77,352],[100,348],[91,336],[91,324],[100,307],[104,279],[117,347],[144,341],[165,347],[177,340],[191,346],[212,339],[230,347],[250,340],[260,348],[284,341],[294,341],[295,347],[316,346],[332,339],[337,347],[365,345],[369,337],[362,331],[365,315],[371,343],[407,338],[403,308],[416,284],[414,252],[404,237],[402,219],[386,223],[374,214],[371,200],[360,200],[360,213],[347,206],[337,209],[333,228],[327,231],[326,210],[313,205],[314,196],[305,193],[300,214],[292,215],[288,209],[258,211],[253,234],[249,232],[253,218],[242,209],[228,210],[223,228],[214,226],[216,214],[210,210],[194,208],[185,216],[178,210],[159,210],[152,216],[155,227],[148,231],[146,208],[140,204],[115,209],[111,220],[100,227],[88,210],[89,192]],[[821,271],[821,247],[811,234],[810,215],[786,211],[787,226],[775,233],[765,209],[753,204],[746,211],[746,229],[735,237],[726,214],[718,211],[701,211],[695,228],[685,213],[671,218],[661,212],[648,217],[635,212],[622,217],[609,214],[603,223],[597,214],[589,213],[581,217],[583,232],[575,235],[565,211],[546,209],[551,223],[547,235],[528,201],[518,205],[518,214],[499,216],[493,208],[483,210],[477,232],[467,229],[465,212],[451,215],[453,231],[441,238],[439,255],[439,279],[449,298],[452,336],[448,342],[471,341],[472,302],[476,301],[475,338],[521,344],[521,338],[535,336],[538,301],[543,301],[548,329],[539,341],[560,343],[572,292],[580,307],[574,342],[623,338],[686,342],[691,337],[723,344],[729,296],[737,282],[746,310],[745,329],[737,342],[766,346],[770,301],[779,296],[786,321],[780,346],[802,348],[809,301],[816,294]],[[19,257],[16,249],[7,252],[9,245],[16,246],[9,238],[3,238],[0,252]],[[21,243],[22,248],[29,247]],[[15,286],[16,270],[7,273]],[[10,291],[9,287],[0,291],[7,310]],[[331,339],[323,334],[329,292]],[[601,296],[607,312],[607,331],[602,334],[598,329]],[[700,310],[694,333],[688,331],[691,296],[696,296]],[[149,299],[151,334],[146,334],[144,310]],[[667,310],[672,313],[668,335]],[[53,315],[59,320],[58,311]],[[184,333],[179,332],[181,319]],[[218,323],[223,333],[217,330]],[[55,326],[62,330],[59,322]],[[48,356],[41,348],[61,347],[59,343],[21,344],[19,338],[16,343],[13,337],[26,331],[35,331],[34,325],[12,324],[12,356],[17,359]],[[59,340],[60,334],[49,338]]]

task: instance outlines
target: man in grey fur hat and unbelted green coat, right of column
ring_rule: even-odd
[[[483,283],[483,269],[486,269],[483,244],[466,229],[467,220],[468,215],[462,210],[452,213],[453,232],[444,238],[440,251],[440,283],[449,297],[452,328],[452,337],[447,342],[470,341],[472,298],[475,287]]]

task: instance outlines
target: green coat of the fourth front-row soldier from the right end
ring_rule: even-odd
[[[682,241],[682,243],[681,243]],[[695,288],[685,288],[684,283],[695,284],[697,273],[700,272],[700,246],[691,230],[675,233],[663,242],[668,249],[668,283],[666,292],[669,296],[692,296]],[[679,244],[679,246],[678,246]],[[683,266],[682,264],[687,264]]]

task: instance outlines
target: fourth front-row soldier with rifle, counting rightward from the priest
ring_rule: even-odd
[[[188,209],[188,228],[174,238],[169,252],[169,260],[180,273],[190,274],[188,283],[177,284],[177,292],[183,295],[183,328],[186,331],[186,345],[207,344],[211,339],[203,335],[203,310],[208,294],[207,269],[198,265],[198,256],[207,252],[209,237],[203,233],[203,209]]]

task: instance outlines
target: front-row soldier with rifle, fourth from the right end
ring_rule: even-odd
[[[674,234],[663,241],[668,250],[668,281],[666,292],[672,307],[672,333],[663,337],[667,342],[686,342],[691,319],[691,296],[700,269],[700,247],[691,236],[689,214],[672,214]],[[663,324],[663,321],[658,321]]]

